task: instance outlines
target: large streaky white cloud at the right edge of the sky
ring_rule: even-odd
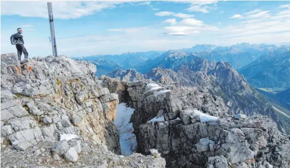
[[[281,7],[281,6],[280,6]],[[286,5],[282,7],[287,7]],[[290,32],[290,10],[282,10],[275,14],[270,14],[270,11],[262,11],[261,9],[255,9],[244,13],[245,16],[240,14],[235,14],[230,18],[242,18],[243,21],[236,23],[234,25],[227,26],[221,31],[225,32],[223,36],[217,36],[217,38],[233,38],[235,40],[249,39],[250,37],[261,37],[263,35],[268,35],[272,37],[280,36],[284,32]],[[273,34],[273,35],[270,35]],[[275,35],[274,35],[275,34]],[[286,33],[287,34],[287,33]],[[289,34],[289,33],[288,33]],[[251,41],[268,40],[270,38],[261,38]],[[286,38],[283,37],[283,40]],[[290,36],[288,36],[290,39]],[[288,40],[289,41],[289,40]]]

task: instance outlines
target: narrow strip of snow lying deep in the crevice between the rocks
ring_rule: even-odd
[[[137,140],[133,133],[133,125],[130,117],[135,109],[126,106],[126,103],[120,103],[117,106],[116,119],[114,124],[120,133],[121,155],[128,156],[136,152]]]

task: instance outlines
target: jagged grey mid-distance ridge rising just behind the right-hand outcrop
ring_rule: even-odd
[[[157,82],[177,82],[180,86],[193,86],[200,90],[206,89],[212,95],[222,98],[229,109],[228,114],[271,116],[281,131],[290,133],[288,124],[290,119],[273,109],[272,105],[227,62],[213,62],[194,57],[174,69],[154,68],[145,74],[144,78]]]

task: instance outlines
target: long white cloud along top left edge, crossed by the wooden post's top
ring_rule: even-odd
[[[1,15],[15,14],[26,17],[48,18],[47,2],[49,1],[1,1]],[[54,18],[70,19],[92,15],[103,9],[115,8],[116,5],[126,2],[129,1],[52,1],[52,8]],[[149,2],[138,3],[139,5],[147,5]],[[13,6],[12,9],[11,6]]]

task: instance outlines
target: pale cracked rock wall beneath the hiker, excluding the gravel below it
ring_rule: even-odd
[[[118,97],[95,81],[96,66],[66,56],[19,64],[14,56],[1,55],[1,91],[18,95],[1,103],[1,122],[12,129],[1,141],[16,145],[55,141],[60,134],[89,134],[120,153],[116,129],[114,136],[106,130],[113,126]]]

